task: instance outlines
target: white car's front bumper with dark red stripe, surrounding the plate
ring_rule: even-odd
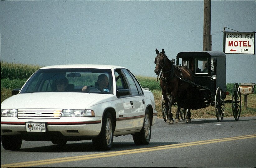
[[[16,117],[1,117],[1,135],[30,134],[26,131],[26,122],[45,123],[46,133],[59,132],[70,136],[97,136],[101,131],[102,117],[69,117],[58,120],[25,120]],[[35,134],[40,134],[37,132]],[[42,132],[43,133],[43,132]],[[33,134],[33,133],[32,133]],[[31,135],[32,135],[31,134]]]

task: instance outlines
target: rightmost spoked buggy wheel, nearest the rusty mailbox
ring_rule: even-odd
[[[237,83],[235,83],[232,93],[232,112],[235,120],[239,120],[241,114],[241,92]]]

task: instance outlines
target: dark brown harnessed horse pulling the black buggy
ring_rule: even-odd
[[[173,124],[173,114],[171,113],[172,105],[177,102],[179,109],[179,101],[183,99],[184,95],[190,93],[190,84],[184,82],[182,79],[193,81],[192,71],[185,66],[175,66],[171,60],[167,58],[164,49],[159,53],[157,49],[155,58],[155,73],[160,77],[160,86],[162,89],[163,99],[166,102],[166,110],[168,113],[167,123]],[[167,94],[171,95],[169,100]],[[169,102],[169,104],[167,103]],[[190,110],[187,114],[187,122],[191,122]],[[176,112],[175,122],[179,122],[179,111]]]

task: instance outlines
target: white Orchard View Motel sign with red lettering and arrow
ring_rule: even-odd
[[[226,54],[255,54],[255,32],[226,32],[223,35]]]

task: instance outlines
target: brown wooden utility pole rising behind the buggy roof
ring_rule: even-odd
[[[203,51],[210,51],[211,45],[211,0],[204,0]]]

